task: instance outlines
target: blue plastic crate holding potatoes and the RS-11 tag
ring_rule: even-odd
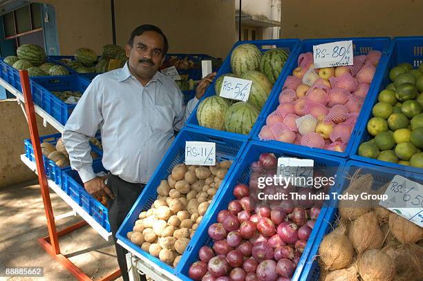
[[[157,192],[156,188],[159,186],[161,180],[166,180],[168,175],[171,173],[172,168],[176,166],[177,164],[180,164],[184,162],[185,159],[185,142],[187,141],[196,141],[196,142],[215,142],[216,143],[216,161],[220,162],[223,160],[233,160],[231,168],[229,168],[229,171],[227,172],[227,175],[225,179],[223,180],[221,186],[225,184],[225,182],[229,179],[229,176],[231,175],[234,168],[238,165],[238,158],[241,156],[241,153],[243,152],[243,149],[245,147],[244,142],[241,139],[236,138],[229,138],[229,137],[217,137],[212,134],[204,133],[203,131],[196,130],[194,128],[183,128],[180,133],[178,133],[178,136],[173,141],[173,144],[167,151],[166,155],[164,155],[164,158],[162,159],[162,162],[156,168],[156,172],[153,174],[151,179],[149,180],[149,183],[144,188],[144,191],[142,191],[141,195],[138,197],[138,200],[135,202],[134,206],[132,207],[131,211],[129,211],[129,214],[126,216],[126,219],[124,220],[122,226],[120,226],[120,229],[118,230],[118,234],[116,235],[119,240],[122,240],[124,244],[129,246],[132,249],[132,252],[136,255],[142,255],[145,258],[148,258],[151,260],[151,262],[154,262],[159,267],[164,269],[165,271],[168,271],[171,274],[176,274],[176,272],[179,271],[179,269],[182,267],[182,264],[178,264],[176,269],[173,267],[170,267],[168,264],[165,264],[164,262],[160,261],[158,258],[153,257],[149,253],[146,253],[140,249],[140,246],[137,246],[133,244],[128,238],[126,238],[126,233],[129,231],[132,231],[133,226],[135,224],[135,221],[138,220],[138,215],[141,213],[141,211],[147,211],[151,204],[157,199]],[[206,218],[211,214],[210,210],[212,209],[212,206],[216,202],[216,198],[219,197],[219,193],[222,191],[222,188],[218,189],[218,192],[214,196],[214,200],[209,206],[209,209],[204,215],[204,220],[207,220]],[[203,224],[203,222],[201,223]],[[200,224],[200,226],[201,226]],[[189,243],[189,247],[193,247],[194,244],[196,244],[196,235],[191,239],[191,242]],[[187,254],[187,251],[185,251],[184,255]]]

